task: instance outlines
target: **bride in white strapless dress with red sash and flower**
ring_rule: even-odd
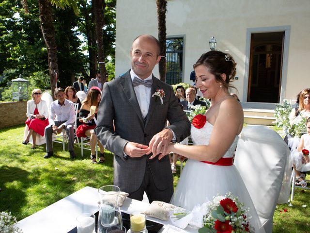
[[[241,105],[228,91],[236,74],[235,66],[229,54],[215,50],[202,54],[194,65],[197,87],[204,98],[211,99],[212,105],[205,116],[193,120],[194,146],[169,144],[168,151],[188,158],[171,203],[192,210],[217,194],[223,196],[231,191],[250,208],[255,232],[264,232],[247,188],[233,165],[237,135],[244,120]]]

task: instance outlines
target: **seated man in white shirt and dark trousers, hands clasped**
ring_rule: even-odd
[[[65,99],[64,90],[61,87],[55,88],[55,98],[49,109],[48,122],[49,126],[45,128],[45,139],[47,141],[47,153],[44,158],[53,155],[52,134],[62,133],[65,128],[68,135],[68,150],[70,158],[74,159],[74,104],[70,100]]]

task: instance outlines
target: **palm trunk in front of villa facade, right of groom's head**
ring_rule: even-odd
[[[158,40],[160,44],[160,56],[163,56],[158,63],[159,78],[166,82],[166,11],[167,1],[156,0],[157,5],[157,23]]]

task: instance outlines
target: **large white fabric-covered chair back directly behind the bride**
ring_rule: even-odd
[[[268,233],[272,232],[279,197],[285,202],[289,199],[290,161],[290,150],[278,133],[267,126],[247,126],[243,129],[234,164]]]

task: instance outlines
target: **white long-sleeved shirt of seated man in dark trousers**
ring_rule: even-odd
[[[70,100],[64,100],[62,105],[58,100],[55,100],[50,105],[48,122],[50,125],[55,125],[55,121],[65,121],[64,126],[74,124],[74,104]]]

